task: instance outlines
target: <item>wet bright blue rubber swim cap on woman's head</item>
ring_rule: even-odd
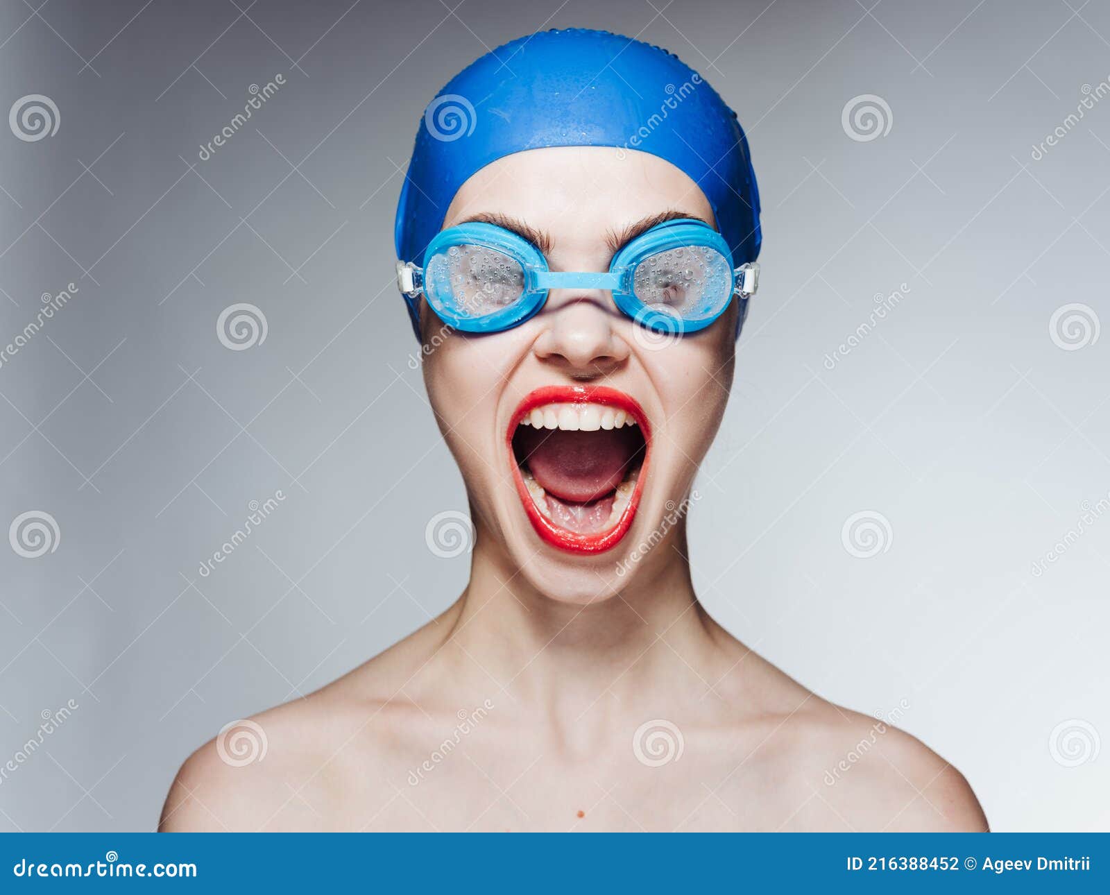
[[[427,107],[397,203],[397,258],[421,262],[472,174],[546,147],[619,147],[665,159],[702,188],[733,263],[759,254],[759,192],[736,113],[673,53],[573,28],[492,50]],[[416,325],[415,300],[408,311]]]

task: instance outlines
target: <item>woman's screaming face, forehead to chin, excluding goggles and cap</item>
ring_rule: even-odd
[[[604,272],[625,242],[675,213],[714,222],[669,162],[567,147],[483,168],[444,228],[486,220],[521,231],[553,271]],[[471,335],[422,302],[424,379],[478,549],[569,603],[613,596],[677,561],[694,475],[731,385],[736,314],[733,302],[707,329],[665,336],[607,292],[555,289],[521,325]]]

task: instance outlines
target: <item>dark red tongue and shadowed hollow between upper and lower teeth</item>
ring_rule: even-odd
[[[548,494],[588,503],[609,494],[624,479],[643,440],[632,428],[596,432],[523,428],[521,456]]]

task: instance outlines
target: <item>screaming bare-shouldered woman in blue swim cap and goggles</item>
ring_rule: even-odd
[[[986,829],[960,774],[710,619],[686,511],[755,291],[747,142],[674,57],[533,34],[428,107],[398,284],[466,483],[433,623],[199,750],[163,829]]]

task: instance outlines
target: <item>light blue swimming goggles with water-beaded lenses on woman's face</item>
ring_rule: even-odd
[[[652,228],[614,257],[607,273],[564,272],[531,242],[490,223],[442,230],[424,252],[424,267],[397,262],[397,288],[410,305],[420,294],[436,315],[463,332],[503,332],[536,314],[552,289],[604,289],[617,308],[662,333],[697,332],[739,296],[743,320],[759,265],[733,268],[724,237],[704,221],[683,218]]]

